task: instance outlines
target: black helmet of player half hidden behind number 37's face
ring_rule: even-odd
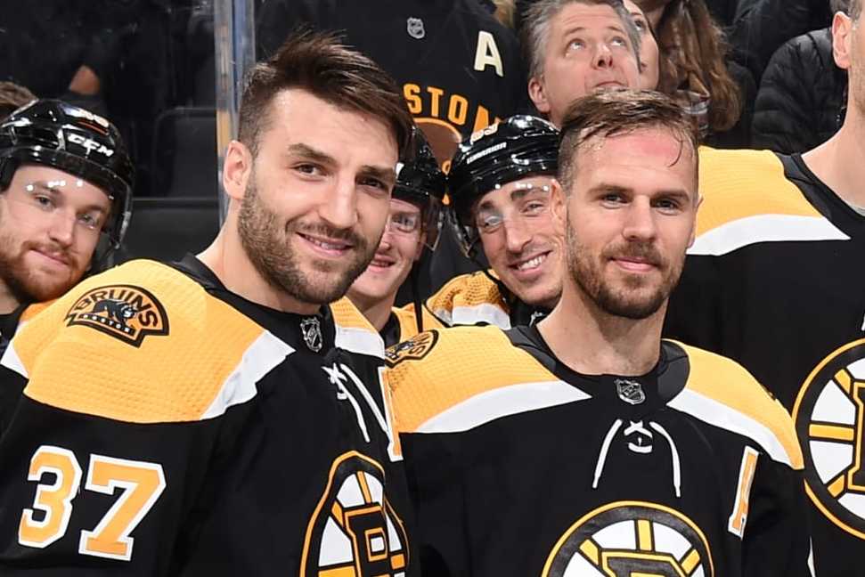
[[[397,168],[393,197],[420,207],[423,243],[435,249],[444,217],[442,199],[445,198],[446,180],[420,129],[414,132],[412,158],[404,158]]]

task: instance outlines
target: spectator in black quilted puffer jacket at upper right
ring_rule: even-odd
[[[830,0],[847,12],[847,0]],[[844,122],[847,73],[836,66],[832,29],[812,30],[781,46],[763,73],[757,93],[752,143],[791,154],[826,142]]]

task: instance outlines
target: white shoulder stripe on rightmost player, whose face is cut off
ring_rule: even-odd
[[[850,240],[850,237],[822,216],[756,215],[701,234],[688,254],[722,256],[758,242],[796,240]]]

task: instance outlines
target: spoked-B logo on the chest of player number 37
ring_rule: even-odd
[[[384,478],[379,463],[357,451],[333,462],[306,529],[300,577],[405,577],[408,540]]]

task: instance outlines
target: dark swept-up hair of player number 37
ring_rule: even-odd
[[[306,90],[340,109],[379,118],[393,129],[400,154],[410,150],[412,116],[396,82],[333,33],[299,29],[249,71],[241,99],[238,140],[257,154],[277,93]]]

